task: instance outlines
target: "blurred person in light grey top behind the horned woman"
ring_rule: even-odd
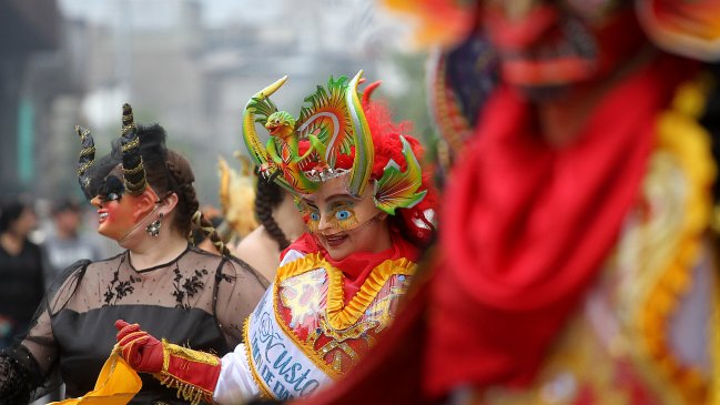
[[[72,199],[54,202],[52,209],[53,230],[42,246],[47,257],[48,284],[72,263],[87,259],[100,260],[100,250],[81,233],[82,207]]]

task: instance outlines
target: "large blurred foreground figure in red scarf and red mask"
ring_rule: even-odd
[[[296,405],[718,404],[720,1],[388,2],[471,6],[499,79],[427,282]]]

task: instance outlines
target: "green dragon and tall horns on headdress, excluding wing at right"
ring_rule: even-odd
[[[362,74],[361,71],[349,83],[347,78],[339,77],[337,80],[331,78],[327,89],[318,85],[315,93],[305,99],[311,105],[301,110],[297,121],[290,113],[278,111],[268,99],[287,77],[251,98],[243,117],[243,138],[261,171],[291,192],[308,194],[323,180],[344,173],[335,168],[337,159],[354,153],[349,190],[361,195],[369,180],[373,161],[373,140],[357,95]],[[255,122],[270,132],[265,148],[257,138]],[[301,154],[303,141],[308,148]]]

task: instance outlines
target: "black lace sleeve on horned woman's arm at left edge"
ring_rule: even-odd
[[[18,343],[0,351],[0,404],[27,404],[53,373],[58,347],[52,335],[51,315],[72,296],[88,261],[72,264],[52,285],[36,311],[28,333]]]

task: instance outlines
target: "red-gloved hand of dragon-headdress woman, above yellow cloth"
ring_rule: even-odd
[[[138,324],[115,321],[118,345],[122,357],[138,372],[160,373],[163,364],[162,343]]]

